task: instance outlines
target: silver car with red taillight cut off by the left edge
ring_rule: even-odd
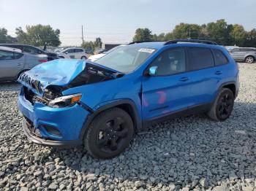
[[[0,81],[16,80],[24,71],[47,61],[47,55],[31,55],[19,49],[0,47]]]

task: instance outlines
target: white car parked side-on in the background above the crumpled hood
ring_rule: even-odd
[[[87,59],[90,54],[87,49],[83,48],[67,48],[58,52],[59,58],[75,58],[75,59]]]

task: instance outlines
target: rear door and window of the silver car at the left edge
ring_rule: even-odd
[[[24,67],[24,55],[0,50],[0,79],[15,79]]]

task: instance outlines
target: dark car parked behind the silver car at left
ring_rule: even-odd
[[[18,48],[22,50],[23,52],[30,53],[33,55],[47,55],[48,56],[48,61],[53,61],[55,59],[59,59],[58,55],[56,52],[48,52],[48,51],[43,51],[37,47],[33,47],[31,45],[27,44],[0,44],[2,47],[13,47],[13,48]]]

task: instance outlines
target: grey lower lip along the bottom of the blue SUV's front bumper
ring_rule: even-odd
[[[29,128],[28,122],[24,119],[22,122],[22,128],[26,136],[29,140],[33,141],[36,144],[42,144],[44,146],[48,147],[64,147],[64,148],[72,148],[72,147],[78,147],[82,144],[80,140],[75,141],[53,141],[53,140],[47,140],[47,139],[41,139],[38,136],[34,136],[31,133],[31,127]]]

